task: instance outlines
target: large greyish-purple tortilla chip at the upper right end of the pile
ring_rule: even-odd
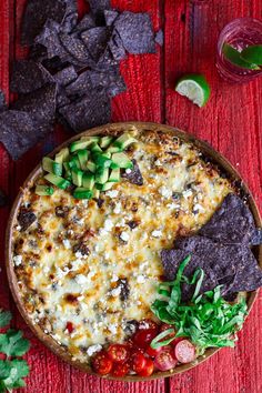
[[[148,13],[122,12],[114,23],[125,50],[129,53],[154,53],[155,42]]]

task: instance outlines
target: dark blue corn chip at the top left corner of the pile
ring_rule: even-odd
[[[47,20],[52,19],[60,24],[66,12],[67,4],[62,0],[29,0],[22,18],[21,43],[33,44]]]

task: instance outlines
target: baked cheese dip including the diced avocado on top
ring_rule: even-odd
[[[161,250],[232,190],[193,144],[161,131],[83,137],[44,158],[13,229],[31,320],[80,362],[125,342],[139,321],[155,321]]]

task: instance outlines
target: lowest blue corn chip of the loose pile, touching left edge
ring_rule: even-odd
[[[52,125],[43,124],[32,113],[16,110],[0,113],[0,141],[13,160],[20,159],[50,131]]]

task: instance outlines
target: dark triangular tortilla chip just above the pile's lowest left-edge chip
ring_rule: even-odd
[[[12,109],[29,112],[39,122],[52,123],[56,115],[57,84],[49,83],[34,92],[20,95],[12,104]]]

